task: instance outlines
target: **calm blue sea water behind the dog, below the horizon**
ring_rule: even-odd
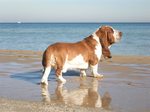
[[[123,32],[113,55],[150,56],[150,23],[0,23],[0,49],[44,51],[55,42],[77,42],[102,25]]]

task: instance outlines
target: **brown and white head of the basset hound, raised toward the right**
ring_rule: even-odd
[[[119,42],[122,37],[122,32],[115,30],[110,26],[102,26],[96,31],[96,35],[100,39],[104,58],[111,58],[112,56],[109,48],[112,44]]]

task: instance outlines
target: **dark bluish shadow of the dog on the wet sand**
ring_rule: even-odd
[[[63,73],[63,76],[79,76],[80,72],[79,71],[74,71],[74,70],[69,70],[66,73]],[[40,80],[42,77],[42,70],[38,71],[31,71],[31,72],[24,72],[24,73],[16,73],[12,74],[10,76],[11,78],[19,79],[19,80],[24,80],[28,81],[30,83],[34,84],[40,84]],[[55,75],[55,70],[52,69],[48,81],[56,81],[56,75]]]

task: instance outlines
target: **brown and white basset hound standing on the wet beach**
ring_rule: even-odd
[[[41,83],[48,85],[48,76],[53,67],[58,80],[65,83],[62,77],[70,68],[80,69],[80,76],[86,76],[85,70],[91,67],[94,77],[102,78],[98,73],[98,62],[104,58],[112,58],[110,47],[119,42],[122,32],[111,26],[101,26],[93,34],[76,43],[55,43],[43,53],[42,65],[44,68]]]

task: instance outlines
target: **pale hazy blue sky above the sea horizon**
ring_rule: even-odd
[[[0,0],[0,22],[150,22],[150,0]]]

